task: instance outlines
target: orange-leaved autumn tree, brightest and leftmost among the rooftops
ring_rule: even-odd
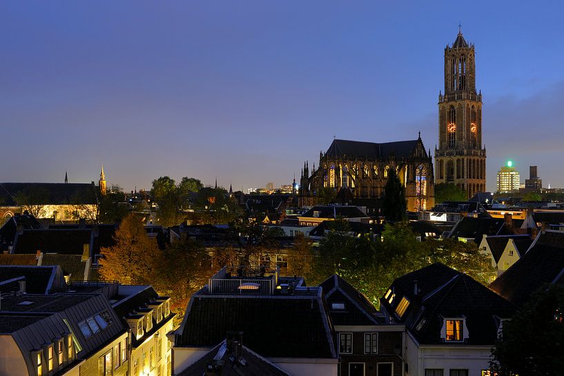
[[[106,281],[121,284],[153,284],[155,266],[162,255],[157,241],[150,239],[141,219],[130,214],[121,221],[114,235],[115,246],[101,248],[99,273]]]

